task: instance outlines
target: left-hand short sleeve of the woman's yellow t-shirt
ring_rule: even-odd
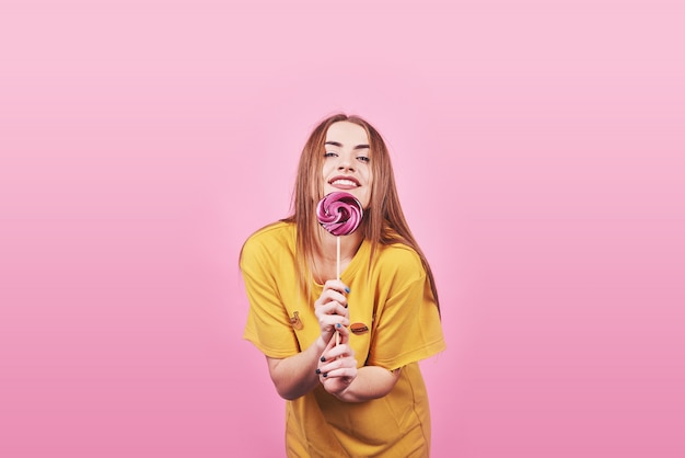
[[[243,337],[272,358],[297,354],[300,347],[278,291],[274,251],[258,239],[248,239],[240,265],[249,301]]]

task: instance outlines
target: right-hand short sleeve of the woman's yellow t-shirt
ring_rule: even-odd
[[[390,285],[380,297],[368,365],[395,369],[445,348],[440,314],[428,276],[414,251],[404,250],[383,279]]]

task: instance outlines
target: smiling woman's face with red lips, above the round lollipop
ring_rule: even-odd
[[[371,202],[373,174],[364,128],[348,121],[334,123],[326,131],[324,148],[324,195],[344,191],[367,208]]]

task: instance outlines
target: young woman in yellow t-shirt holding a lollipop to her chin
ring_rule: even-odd
[[[316,218],[334,191],[364,209],[357,231],[341,237],[339,280],[336,237]],[[438,294],[375,128],[339,114],[314,129],[294,213],[249,237],[240,265],[251,305],[244,336],[288,400],[288,456],[429,456],[418,360],[445,347]]]

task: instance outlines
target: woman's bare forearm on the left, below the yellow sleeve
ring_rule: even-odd
[[[282,359],[267,356],[271,380],[281,398],[298,399],[318,385],[316,364],[325,347],[326,343],[320,336],[304,352],[297,355]]]

